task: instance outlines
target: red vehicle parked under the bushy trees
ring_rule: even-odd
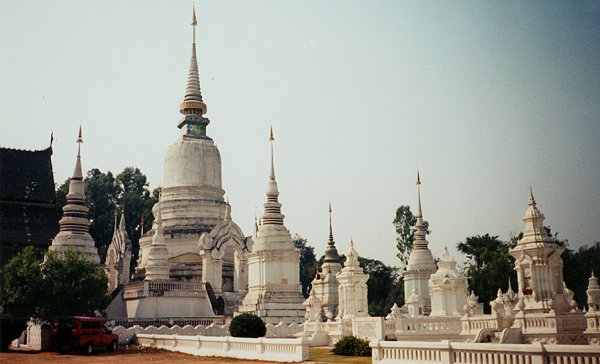
[[[58,350],[116,350],[119,336],[106,327],[102,317],[71,316],[52,321],[52,345]]]

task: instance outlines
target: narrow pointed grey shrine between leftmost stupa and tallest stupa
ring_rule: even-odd
[[[106,273],[108,276],[108,291],[114,291],[118,286],[129,283],[131,266],[131,240],[125,228],[125,207],[121,210],[121,219],[117,224],[115,209],[115,230],[106,252]]]

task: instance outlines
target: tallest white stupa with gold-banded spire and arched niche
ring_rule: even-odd
[[[161,199],[155,207],[161,223],[140,238],[140,258],[135,269],[136,280],[160,280],[160,285],[152,287],[168,289],[169,294],[180,298],[189,295],[190,299],[187,304],[179,305],[179,310],[170,307],[150,313],[138,310],[137,303],[128,303],[129,317],[165,312],[178,317],[210,316],[213,312],[231,315],[247,289],[245,266],[251,240],[231,219],[231,207],[225,202],[221,185],[221,156],[207,134],[210,121],[205,117],[207,106],[200,90],[196,25],[194,10],[192,56],[185,96],[179,108],[183,118],[177,124],[182,136],[165,155]],[[164,242],[166,248],[166,265],[162,263],[162,253],[159,254],[161,269],[158,273],[157,242],[158,247]],[[164,280],[171,282],[167,284]],[[156,299],[159,306],[173,305],[174,298],[167,299],[167,293],[161,294],[165,297]],[[138,299],[133,293],[128,294],[127,288],[124,298]],[[200,301],[209,298],[212,309],[206,310]]]

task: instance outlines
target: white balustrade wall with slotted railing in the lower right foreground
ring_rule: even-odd
[[[372,342],[373,363],[394,364],[600,364],[600,347],[588,345]]]

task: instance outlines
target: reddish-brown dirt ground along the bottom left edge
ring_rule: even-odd
[[[157,349],[147,349],[138,346],[119,347],[115,352],[98,351],[92,355],[79,355],[77,353],[59,354],[55,352],[28,353],[9,351],[0,353],[2,364],[37,364],[37,363],[115,363],[115,364],[139,364],[139,363],[161,363],[161,364],[265,364],[273,362],[238,360],[226,358],[210,358],[193,356],[183,353],[175,353]]]

